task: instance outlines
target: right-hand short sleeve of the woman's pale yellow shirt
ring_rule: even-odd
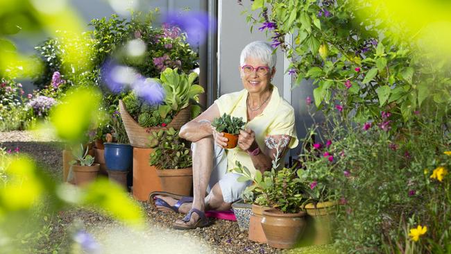
[[[269,126],[268,135],[289,135],[291,142],[289,148],[298,146],[299,140],[296,134],[296,124],[294,123],[294,109],[290,106],[278,112],[277,117]]]

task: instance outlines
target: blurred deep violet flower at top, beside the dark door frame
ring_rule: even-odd
[[[209,31],[212,33],[216,31],[216,19],[210,17],[207,12],[167,12],[163,21],[185,31],[187,42],[193,46],[203,44]]]

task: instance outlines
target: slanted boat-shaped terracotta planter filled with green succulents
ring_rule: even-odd
[[[148,79],[153,85],[161,86],[164,93],[162,103],[148,103],[139,98],[136,91],[131,91],[119,101],[119,111],[132,146],[147,148],[150,133],[162,128],[180,129],[201,112],[201,108],[194,105],[198,102],[198,94],[204,92],[203,87],[194,84],[198,75],[178,72],[177,68],[166,68],[160,79]]]

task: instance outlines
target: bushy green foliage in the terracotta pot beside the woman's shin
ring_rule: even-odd
[[[192,167],[192,157],[185,141],[173,128],[153,132],[149,137],[154,148],[149,163],[158,169],[185,169]]]

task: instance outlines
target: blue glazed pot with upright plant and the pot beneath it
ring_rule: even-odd
[[[113,132],[105,135],[107,142],[103,144],[108,178],[126,188],[127,173],[133,164],[133,147],[128,144],[128,137],[119,112],[112,114],[110,126]]]

